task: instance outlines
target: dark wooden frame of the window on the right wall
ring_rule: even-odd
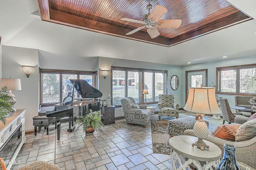
[[[253,93],[230,93],[230,92],[219,92],[219,75],[218,71],[223,71],[223,70],[231,70],[231,69],[249,69],[249,68],[255,68],[256,63],[254,64],[245,64],[245,65],[234,65],[234,66],[226,66],[226,67],[216,67],[216,93],[219,95],[239,95],[239,96],[256,96],[256,94]],[[236,75],[238,77],[239,75]],[[237,81],[237,79],[236,79]]]

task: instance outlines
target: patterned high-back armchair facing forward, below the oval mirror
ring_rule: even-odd
[[[175,104],[174,95],[161,94],[158,95],[158,116],[159,120],[161,116],[179,117],[180,105]]]

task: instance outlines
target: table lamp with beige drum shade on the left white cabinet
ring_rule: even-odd
[[[20,79],[12,79],[11,77],[9,79],[1,78],[0,80],[0,88],[6,86],[7,90],[9,90],[9,96],[12,97],[12,99],[9,101],[12,105],[16,103],[16,99],[14,99],[14,94],[12,94],[12,90],[21,90],[21,84]],[[16,109],[12,106],[12,109],[16,111]]]

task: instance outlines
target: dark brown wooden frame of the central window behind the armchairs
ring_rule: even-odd
[[[166,87],[165,87],[165,91],[166,94],[168,93],[167,91],[167,79],[168,79],[168,71],[167,70],[159,70],[159,69],[142,69],[142,68],[132,68],[132,67],[116,67],[116,66],[111,66],[111,97],[113,99],[113,70],[118,70],[118,71],[138,71],[138,72],[142,72],[142,79],[144,79],[144,73],[145,72],[152,72],[152,73],[165,73],[166,74]],[[144,88],[144,84],[142,83],[142,89]],[[141,92],[142,93],[142,92]],[[142,103],[138,103],[138,104],[145,104],[144,101],[144,95],[142,95],[141,97]],[[113,100],[111,100],[111,105],[113,105]],[[154,102],[147,102],[147,104],[156,104],[158,103],[158,101],[154,101]],[[121,105],[115,105],[115,107],[122,107]]]

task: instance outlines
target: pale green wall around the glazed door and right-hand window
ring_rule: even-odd
[[[182,66],[182,91],[184,91],[184,95],[182,98],[183,107],[185,106],[185,96],[186,96],[186,79],[185,72],[189,70],[198,70],[198,69],[208,69],[208,87],[214,87],[216,85],[216,67],[227,67],[234,65],[244,65],[244,64],[253,64],[256,63],[256,56],[247,56],[247,57],[238,57],[233,59],[222,59],[219,61],[212,61],[207,63],[199,63]],[[213,83],[212,83],[213,82]],[[230,105],[235,105],[234,95],[218,95],[224,99],[228,99],[228,103]]]

